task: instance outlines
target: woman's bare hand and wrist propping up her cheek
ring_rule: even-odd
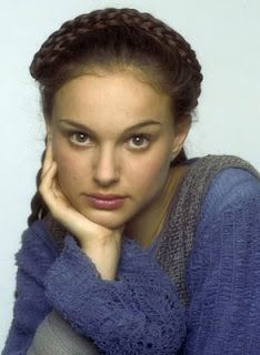
[[[47,144],[39,191],[52,216],[79,241],[101,277],[113,280],[120,256],[123,226],[119,230],[103,227],[88,220],[70,204],[57,179],[57,163],[53,160],[50,141]]]

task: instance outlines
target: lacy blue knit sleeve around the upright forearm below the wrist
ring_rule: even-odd
[[[174,285],[138,244],[123,240],[116,281],[99,277],[73,236],[46,277],[46,294],[106,354],[177,354],[186,334]]]

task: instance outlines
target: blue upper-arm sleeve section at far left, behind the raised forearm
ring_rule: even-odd
[[[44,295],[43,275],[56,256],[54,247],[43,237],[42,222],[36,222],[22,234],[22,246],[16,254],[13,320],[2,355],[26,355],[38,325],[51,311]]]

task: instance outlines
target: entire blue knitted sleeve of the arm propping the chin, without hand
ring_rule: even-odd
[[[124,241],[116,281],[103,281],[71,235],[59,253],[36,222],[17,254],[18,298],[3,355],[23,355],[56,308],[108,354],[174,354],[184,336],[174,286],[133,241]]]

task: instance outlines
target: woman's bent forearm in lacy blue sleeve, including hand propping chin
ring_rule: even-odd
[[[186,329],[176,287],[137,243],[122,245],[123,226],[108,230],[76,211],[57,172],[49,142],[39,190],[69,231],[47,274],[50,304],[106,354],[174,354]]]

